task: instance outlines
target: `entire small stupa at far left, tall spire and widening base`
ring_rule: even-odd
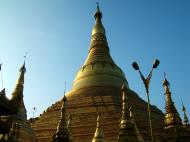
[[[3,119],[12,124],[12,130],[10,134],[10,141],[16,142],[34,142],[36,137],[30,124],[27,121],[27,113],[24,105],[23,90],[24,90],[24,74],[26,72],[25,63],[20,69],[19,78],[16,83],[16,87],[12,93],[10,102],[16,107],[15,114],[11,116],[4,116]]]

